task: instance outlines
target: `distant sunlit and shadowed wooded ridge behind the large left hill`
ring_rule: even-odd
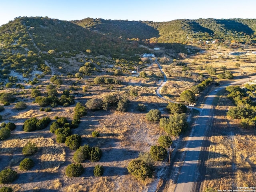
[[[197,19],[169,22],[104,20],[86,18],[71,21],[100,34],[122,38],[152,39],[160,43],[200,40],[247,42],[256,40],[256,19]]]

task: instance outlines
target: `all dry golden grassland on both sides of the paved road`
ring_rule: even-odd
[[[238,58],[228,54],[234,51],[232,49],[214,47],[214,45],[206,48],[206,52],[191,55],[181,60],[190,67],[190,70],[186,72],[182,71],[181,66],[172,66],[170,63],[162,64],[165,71],[172,71],[172,74],[168,75],[166,87],[162,90],[164,96],[179,101],[179,95],[182,91],[200,82],[198,80],[200,74],[204,79],[209,77],[206,70],[198,70],[198,66],[204,68],[206,64],[212,65],[217,68],[217,72],[220,71],[221,66],[226,66],[235,77],[248,75],[255,71],[253,64],[256,62],[256,56],[253,54],[244,54]],[[253,50],[248,49],[248,51]],[[79,69],[75,61],[71,63],[74,70]],[[236,63],[239,63],[240,67],[235,67]],[[61,72],[65,68],[68,66],[54,71]],[[52,192],[144,192],[154,188],[152,185],[158,183],[158,175],[160,174],[156,173],[156,176],[151,179],[139,181],[128,174],[126,169],[130,160],[137,158],[140,152],[149,152],[150,146],[155,145],[158,137],[164,134],[158,123],[146,121],[146,112],[157,108],[162,112],[162,116],[168,116],[167,102],[156,96],[156,88],[160,86],[163,80],[159,76],[160,70],[156,64],[148,64],[148,67],[143,70],[146,71],[148,78],[136,78],[130,74],[124,74],[118,77],[123,82],[121,85],[96,85],[93,83],[95,76],[89,76],[87,79],[65,77],[64,85],[57,86],[58,94],[61,94],[64,89],[70,89],[72,90],[71,94],[76,96],[76,102],[82,104],[91,98],[103,98],[105,95],[113,93],[122,95],[132,88],[138,90],[138,96],[129,96],[130,103],[127,112],[115,110],[93,112],[88,110],[88,114],[81,118],[79,127],[72,129],[72,134],[82,136],[82,145],[98,146],[102,150],[102,158],[99,162],[86,161],[82,163],[84,173],[78,178],[68,178],[65,175],[66,166],[73,162],[74,151],[66,147],[65,144],[58,144],[56,136],[50,133],[49,126],[43,130],[29,133],[22,129],[24,121],[32,117],[49,116],[52,122],[55,116],[72,120],[75,104],[68,107],[57,106],[52,108],[51,112],[44,112],[40,111],[40,106],[34,104],[34,99],[30,98],[31,90],[28,88],[28,84],[26,84],[25,90],[17,88],[1,90],[2,92],[24,91],[17,97],[18,101],[26,102],[27,108],[18,111],[14,108],[14,104],[11,104],[5,106],[5,110],[0,112],[0,115],[3,116],[2,122],[14,122],[17,126],[11,132],[10,138],[0,141],[0,170],[10,167],[19,174],[18,179],[12,184],[1,184],[0,186],[11,186],[15,192],[46,190]],[[49,83],[49,78],[43,78],[40,83],[42,86],[38,87],[39,90],[43,93],[46,92],[46,85]],[[82,91],[83,86],[86,86],[86,92]],[[219,104],[217,109],[225,111],[227,108],[226,98],[220,98],[220,102],[224,102],[225,106]],[[138,104],[145,104],[147,106],[146,111],[139,112],[136,110]],[[255,141],[256,137],[250,130],[236,128],[235,124],[236,122],[229,122],[224,114],[216,114],[214,124],[216,129],[211,140],[214,145],[210,147],[207,163],[208,180],[205,183],[206,187],[216,187],[219,183],[221,184],[220,189],[224,186],[251,186],[255,184],[253,181],[255,180],[256,158],[249,146],[255,147],[255,142],[252,141]],[[100,133],[99,137],[92,137],[94,130]],[[31,156],[35,162],[32,170],[22,171],[18,167],[20,161],[25,158],[22,154],[22,147],[28,141],[36,143],[39,150]],[[235,166],[232,164],[234,151]],[[101,177],[93,175],[94,166],[97,164],[104,167],[104,174]],[[156,171],[158,171],[165,164],[156,163],[155,166]],[[234,172],[234,174],[228,174],[230,172]]]

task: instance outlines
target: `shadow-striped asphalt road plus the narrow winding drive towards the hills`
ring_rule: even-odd
[[[157,62],[158,67],[162,74],[164,74],[162,67]],[[178,180],[176,183],[175,192],[194,192],[196,191],[196,182],[201,182],[199,178],[200,173],[198,171],[198,168],[200,166],[200,153],[204,153],[205,151],[202,151],[202,149],[206,149],[206,146],[203,146],[202,144],[206,144],[206,142],[203,142],[204,137],[206,136],[207,129],[212,123],[212,108],[213,108],[213,101],[216,97],[216,93],[227,86],[230,85],[240,85],[247,81],[256,79],[256,76],[251,76],[250,78],[243,78],[240,80],[232,80],[230,82],[227,82],[221,86],[216,87],[214,90],[210,92],[208,97],[205,100],[204,106],[202,109],[200,109],[200,115],[196,119],[193,125],[193,129],[191,131],[191,134],[189,136],[188,142],[186,144],[186,156],[184,158],[183,166],[180,170],[180,173],[178,174]],[[167,78],[164,74],[164,82],[162,85],[156,90],[156,94],[163,98],[164,100],[168,100],[164,98],[160,94],[160,90],[162,87],[166,84]],[[172,100],[168,100],[169,102],[173,102]],[[193,107],[194,108],[194,107]],[[201,177],[200,177],[201,178]]]

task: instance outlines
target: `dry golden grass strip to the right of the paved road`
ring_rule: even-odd
[[[256,186],[255,130],[241,128],[239,120],[227,118],[226,111],[230,106],[233,106],[232,102],[226,96],[220,96],[206,162],[204,190]]]

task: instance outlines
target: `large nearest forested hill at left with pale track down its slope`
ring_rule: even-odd
[[[121,39],[91,32],[76,24],[48,17],[22,17],[0,27],[1,47],[9,50],[86,51],[104,56],[134,56],[143,49]],[[140,49],[140,50],[139,50]]]

